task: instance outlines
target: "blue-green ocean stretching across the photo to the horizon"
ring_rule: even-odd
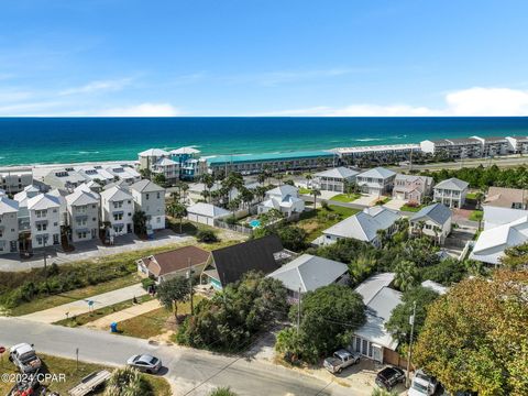
[[[0,118],[0,165],[136,160],[151,147],[202,155],[528,135],[528,118]]]

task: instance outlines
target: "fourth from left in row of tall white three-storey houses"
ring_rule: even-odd
[[[113,186],[101,193],[101,220],[110,223],[109,237],[134,231],[134,200],[129,189]]]

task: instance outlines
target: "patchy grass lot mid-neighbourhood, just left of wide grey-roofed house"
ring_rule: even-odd
[[[307,232],[307,241],[311,242],[320,237],[322,231],[327,228],[358,213],[359,211],[359,209],[330,205],[328,209],[318,208],[317,210],[302,212],[297,226]]]

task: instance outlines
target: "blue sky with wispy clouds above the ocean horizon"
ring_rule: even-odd
[[[16,0],[0,116],[522,116],[526,1]]]

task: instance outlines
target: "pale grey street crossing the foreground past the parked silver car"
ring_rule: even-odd
[[[146,340],[112,336],[89,329],[35,323],[0,317],[0,344],[34,343],[37,352],[79,360],[122,365],[133,354],[152,353],[164,363],[163,375],[175,395],[207,395],[216,386],[230,386],[241,396],[344,396],[348,388],[323,382],[279,365],[205,351],[152,345]]]

